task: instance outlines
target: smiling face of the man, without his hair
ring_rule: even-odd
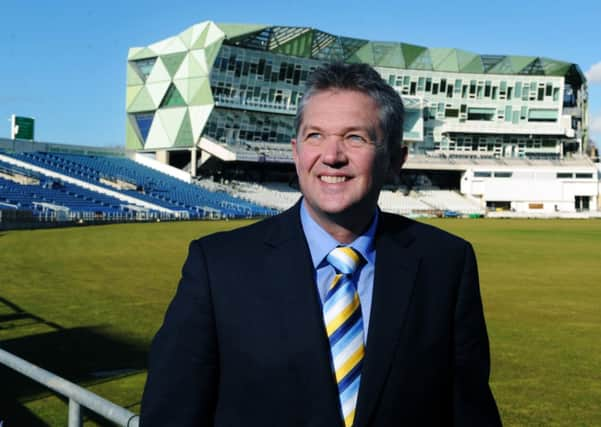
[[[305,106],[292,153],[306,207],[322,226],[373,216],[391,167],[378,110],[352,90],[318,92]]]

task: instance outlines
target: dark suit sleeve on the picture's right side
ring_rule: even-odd
[[[478,267],[467,245],[454,317],[454,425],[500,426],[490,390],[490,351],[484,322]]]

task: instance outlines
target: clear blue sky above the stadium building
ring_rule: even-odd
[[[307,26],[335,35],[573,62],[588,77],[601,147],[601,1],[2,0],[0,137],[34,117],[36,140],[125,144],[130,47],[211,20]]]

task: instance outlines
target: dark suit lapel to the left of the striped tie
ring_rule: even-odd
[[[330,347],[321,304],[299,217],[299,204],[280,215],[266,236],[267,281],[281,306],[282,344],[290,355],[298,381],[298,398],[308,414],[317,414],[320,425],[340,425],[338,393],[330,367]]]

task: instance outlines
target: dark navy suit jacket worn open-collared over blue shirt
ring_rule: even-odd
[[[354,426],[500,425],[470,244],[380,215]],[[141,425],[343,425],[298,204],[191,243]]]

